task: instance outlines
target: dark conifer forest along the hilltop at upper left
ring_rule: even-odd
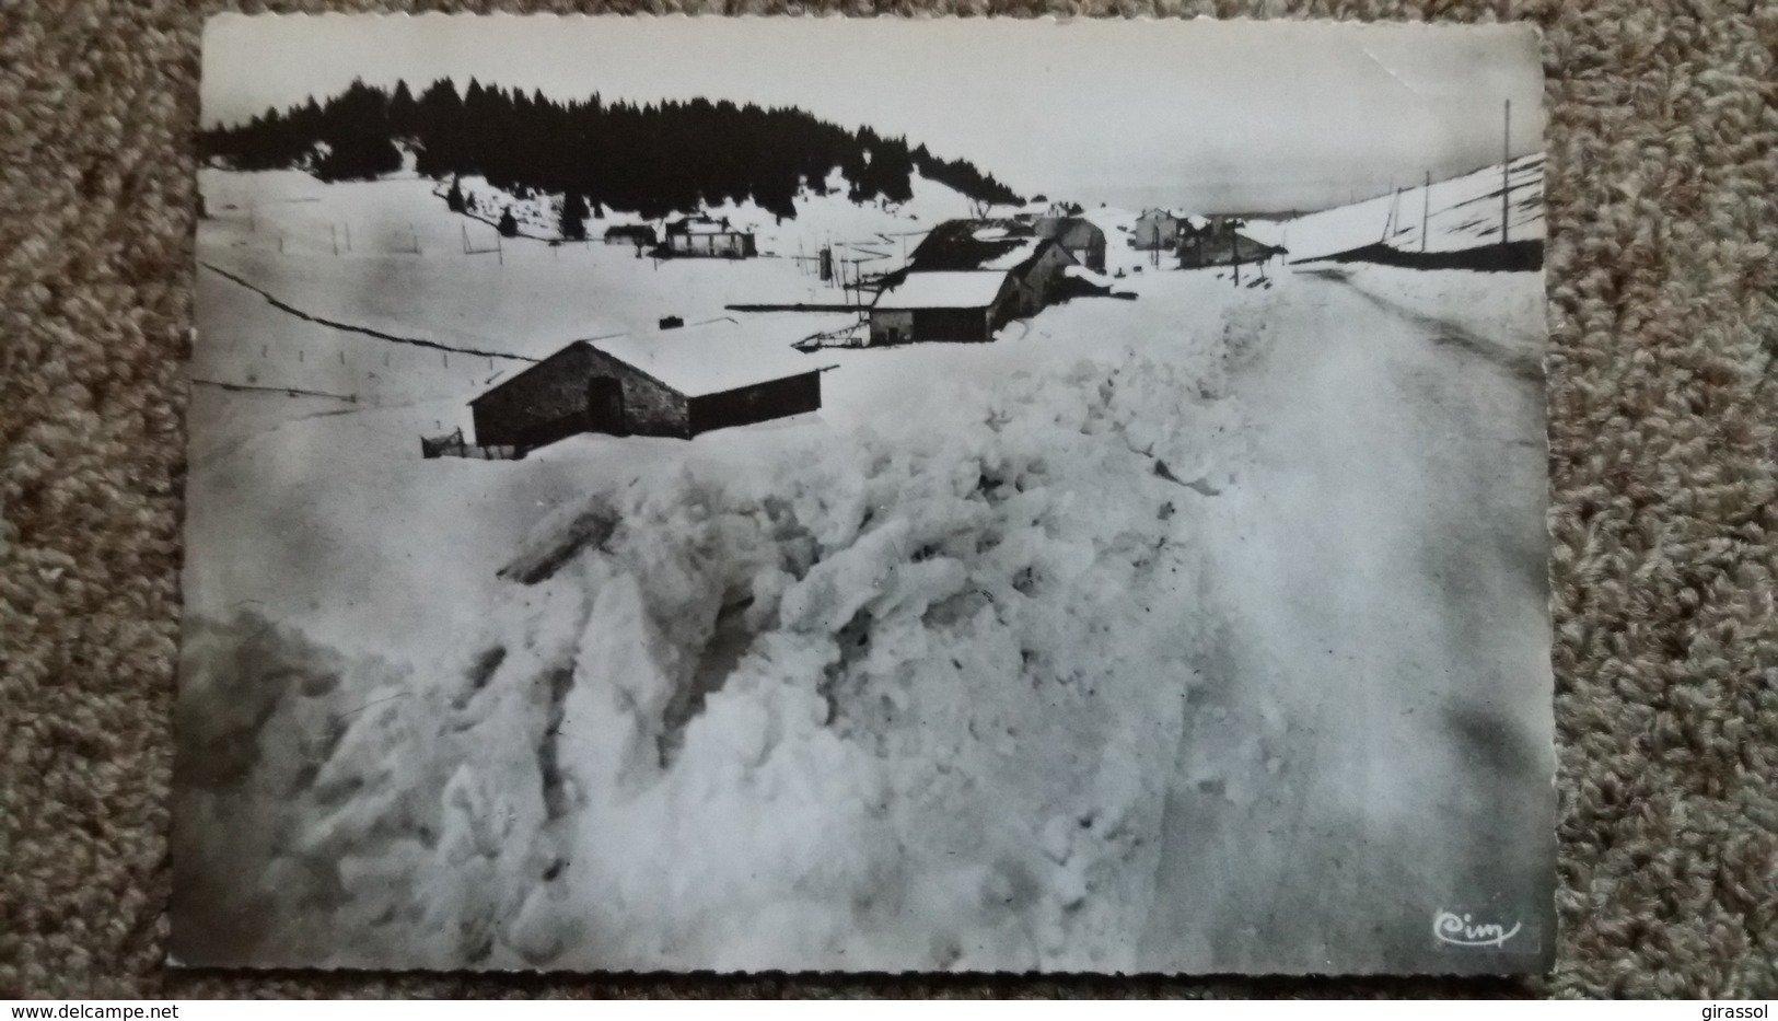
[[[702,203],[752,199],[795,217],[798,189],[823,192],[834,167],[853,201],[907,201],[912,174],[978,201],[1019,196],[967,160],[871,128],[846,130],[795,107],[727,100],[661,103],[557,101],[542,92],[441,78],[414,96],[352,82],[325,101],[268,109],[199,135],[199,155],[238,171],[304,169],[322,180],[368,180],[402,167],[404,149],[430,178],[482,174],[514,194],[551,192],[592,210],[644,217]]]

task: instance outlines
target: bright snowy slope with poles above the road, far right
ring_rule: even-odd
[[[1543,155],[1520,157],[1506,165],[1508,238],[1543,238]],[[1309,213],[1278,226],[1278,244],[1291,249],[1291,261],[1339,254],[1387,242],[1394,249],[1421,251],[1421,221],[1426,219],[1424,249],[1463,251],[1501,240],[1501,164],[1433,181],[1431,189],[1405,187],[1350,206]],[[1269,238],[1261,238],[1269,240]]]

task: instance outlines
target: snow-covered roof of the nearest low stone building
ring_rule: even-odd
[[[724,393],[832,368],[791,349],[802,340],[781,322],[717,318],[704,324],[589,340],[594,349],[631,365],[686,397]]]

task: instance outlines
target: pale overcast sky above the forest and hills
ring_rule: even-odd
[[[795,105],[907,135],[1024,194],[1321,208],[1542,148],[1524,27],[839,18],[247,18],[204,34],[203,117],[354,76],[576,98]],[[418,92],[418,87],[414,89]]]

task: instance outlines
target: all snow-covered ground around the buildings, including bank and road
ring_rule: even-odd
[[[786,256],[965,212],[727,210],[772,258],[656,265],[493,251],[436,187],[203,174],[176,868],[229,909],[183,953],[1374,971],[1462,898],[1547,927],[1540,274],[1237,288],[1102,210],[1136,301],[825,349],[820,413],[692,443],[421,461],[501,356],[843,302]]]

